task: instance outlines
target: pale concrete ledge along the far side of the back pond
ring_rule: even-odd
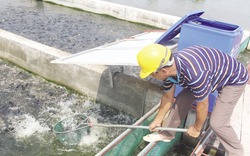
[[[102,0],[44,0],[67,7],[77,8],[97,14],[105,14],[118,19],[147,24],[168,29],[179,20],[179,17],[143,10],[130,6],[110,3]]]

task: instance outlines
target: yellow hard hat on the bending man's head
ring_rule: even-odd
[[[137,54],[137,61],[141,67],[140,77],[146,78],[158,68],[163,67],[171,56],[170,49],[160,44],[150,44]]]

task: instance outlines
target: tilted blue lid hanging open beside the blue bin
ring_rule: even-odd
[[[181,31],[181,27],[183,23],[188,23],[191,20],[199,18],[204,11],[194,11],[191,12],[184,17],[182,17],[178,22],[176,22],[172,27],[170,27],[159,39],[155,41],[158,44],[166,44],[166,42],[173,39],[176,35],[178,35]]]

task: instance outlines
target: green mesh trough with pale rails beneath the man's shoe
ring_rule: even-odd
[[[149,125],[154,119],[159,105],[151,109],[147,114],[140,118],[134,125]],[[181,132],[178,132],[170,142],[149,143],[146,147],[139,151],[139,146],[145,144],[143,136],[149,134],[149,130],[145,129],[127,129],[119,135],[114,141],[108,144],[96,156],[128,156],[128,155],[164,155],[172,149],[181,139]]]

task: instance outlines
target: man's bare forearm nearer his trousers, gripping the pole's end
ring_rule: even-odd
[[[208,97],[206,97],[204,100],[197,102],[196,107],[196,120],[195,123],[188,128],[187,133],[197,138],[200,135],[202,126],[204,122],[206,121],[208,114]]]

